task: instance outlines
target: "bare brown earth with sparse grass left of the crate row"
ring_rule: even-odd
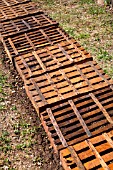
[[[0,170],[62,170],[21,78],[0,48]]]

